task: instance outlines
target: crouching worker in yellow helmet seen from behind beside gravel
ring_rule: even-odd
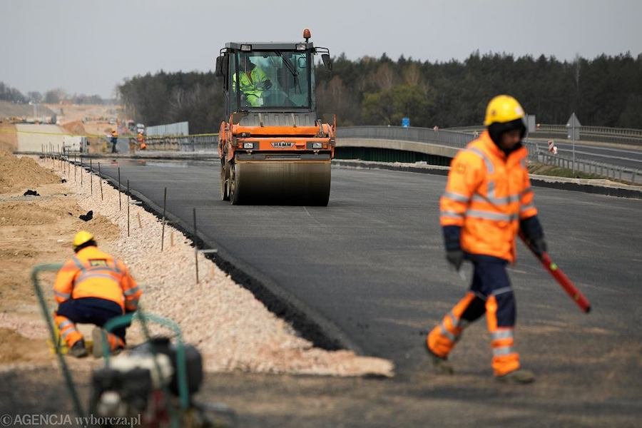
[[[54,322],[61,337],[74,357],[85,357],[83,335],[76,330],[76,322],[102,327],[108,320],[128,312],[135,312],[141,290],[121,260],[98,250],[93,235],[85,230],[73,238],[76,255],[67,260],[56,276],[54,298],[58,310]],[[107,334],[111,352],[125,347],[125,329],[120,327]],[[102,332],[92,332],[93,355],[103,355]]]

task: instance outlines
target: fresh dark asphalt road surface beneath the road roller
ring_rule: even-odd
[[[116,166],[103,164],[103,174],[116,178]],[[121,160],[119,166],[123,186],[129,180],[161,207],[167,187],[168,213],[191,227],[196,208],[210,248],[303,302],[331,337],[393,360],[399,374],[425,369],[425,333],[464,293],[466,284],[444,261],[443,176],[332,168],[327,207],[238,206],[219,198],[217,162]],[[535,191],[551,256],[591,300],[593,313],[582,314],[520,244],[519,263],[510,270],[518,323],[616,327],[618,335],[642,342],[642,200]],[[185,277],[191,280],[191,273]],[[616,337],[601,340],[616,346]],[[529,352],[519,339],[517,346]],[[531,368],[546,370],[536,358]]]

